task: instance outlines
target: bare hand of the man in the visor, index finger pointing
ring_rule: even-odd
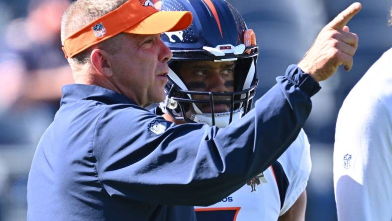
[[[358,36],[351,33],[346,24],[361,7],[361,3],[353,3],[325,25],[298,63],[298,66],[316,81],[328,79],[340,65],[344,65],[346,71],[351,70]]]

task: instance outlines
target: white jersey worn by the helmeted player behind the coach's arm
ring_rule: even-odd
[[[276,163],[247,185],[209,207],[195,207],[197,221],[276,221],[305,190],[311,170],[303,130]]]

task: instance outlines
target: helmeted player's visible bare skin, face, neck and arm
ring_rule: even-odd
[[[182,61],[176,65],[175,72],[190,91],[199,92],[233,92],[234,91],[234,68],[235,62],[214,62],[214,61]],[[193,99],[209,100],[208,96],[193,95]],[[229,99],[227,96],[216,96],[215,100]],[[205,112],[211,112],[209,104],[197,105]],[[215,112],[225,112],[230,109],[229,105],[215,105]],[[187,123],[187,121],[174,120],[166,113],[166,120],[176,124]],[[295,201],[294,205],[278,221],[303,221],[306,208],[306,191]]]

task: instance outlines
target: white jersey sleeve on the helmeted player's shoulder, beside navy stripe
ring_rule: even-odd
[[[279,215],[282,216],[305,190],[311,171],[310,144],[303,129],[286,152],[279,157],[278,162],[282,165],[289,182],[285,202]]]

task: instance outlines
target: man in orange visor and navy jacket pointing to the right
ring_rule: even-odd
[[[194,205],[220,201],[277,160],[309,115],[318,81],[352,66],[358,38],[345,24],[359,3],[327,24],[244,117],[222,129],[175,125],[144,108],[165,98],[172,53],[160,34],[187,28],[192,14],[153,2],[77,0],[65,11],[61,38],[75,84],[63,87],[37,146],[28,221],[195,221]]]

